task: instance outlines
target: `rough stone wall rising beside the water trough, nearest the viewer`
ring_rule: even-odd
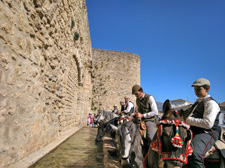
[[[0,167],[86,125],[91,59],[85,0],[0,1]]]

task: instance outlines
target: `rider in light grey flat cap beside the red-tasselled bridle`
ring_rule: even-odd
[[[194,87],[195,95],[198,99],[191,107],[192,113],[186,119],[193,132],[191,141],[193,153],[188,158],[187,167],[200,168],[204,167],[203,156],[219,138],[220,107],[208,94],[210,89],[208,79],[200,78],[192,84],[192,87]]]

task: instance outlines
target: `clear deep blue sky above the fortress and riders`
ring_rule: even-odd
[[[86,3],[92,48],[139,55],[141,86],[156,101],[194,102],[198,78],[209,79],[209,94],[225,101],[225,0]]]

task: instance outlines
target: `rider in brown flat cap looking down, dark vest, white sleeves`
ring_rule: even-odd
[[[132,94],[136,97],[136,117],[142,118],[142,120],[145,121],[147,140],[148,144],[150,144],[155,135],[155,122],[156,116],[158,115],[155,99],[152,95],[144,93],[142,87],[139,85],[134,85],[132,87]]]

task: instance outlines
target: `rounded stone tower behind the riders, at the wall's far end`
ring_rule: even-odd
[[[124,96],[132,95],[132,86],[140,84],[140,57],[136,54],[110,50],[92,49],[93,88],[92,110],[120,109]]]

